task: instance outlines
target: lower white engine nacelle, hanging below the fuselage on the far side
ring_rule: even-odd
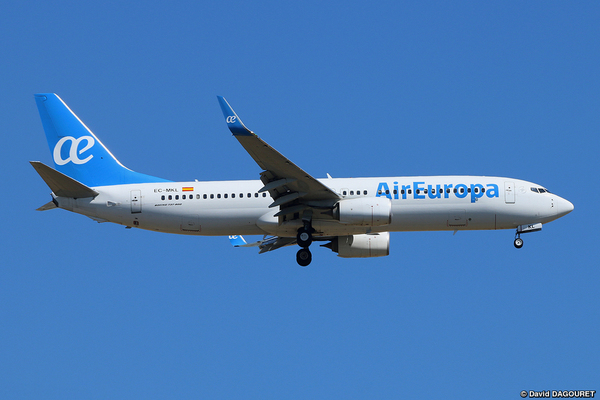
[[[344,258],[388,256],[390,255],[390,233],[337,236],[325,247],[338,253],[338,257]]]

